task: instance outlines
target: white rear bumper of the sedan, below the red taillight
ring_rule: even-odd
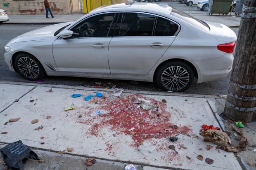
[[[192,64],[197,67],[197,83],[224,79],[232,70],[233,59],[232,54],[226,53],[224,56],[218,58],[192,61]]]

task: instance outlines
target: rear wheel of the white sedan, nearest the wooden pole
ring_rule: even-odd
[[[182,75],[179,75],[181,74]],[[172,61],[161,65],[156,72],[156,84],[164,91],[183,92],[194,81],[194,71],[186,63]]]

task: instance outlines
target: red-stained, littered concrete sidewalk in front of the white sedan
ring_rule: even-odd
[[[224,128],[215,118],[219,117],[219,97],[143,91],[123,91],[116,97],[112,95],[116,90],[0,82],[0,132],[7,132],[0,135],[0,148],[21,140],[29,147],[39,149],[35,152],[46,161],[40,165],[37,161],[25,164],[25,169],[33,170],[56,169],[56,162],[50,163],[52,157],[57,156],[62,162],[76,159],[71,155],[58,157],[56,152],[67,152],[68,147],[73,148],[68,154],[97,158],[98,162],[87,167],[88,170],[100,170],[102,166],[113,169],[114,165],[118,165],[114,169],[124,170],[127,161],[137,170],[242,169],[235,154],[216,149],[216,144],[204,142],[204,137],[199,135],[202,124]],[[97,98],[96,91],[102,93],[103,98]],[[71,97],[77,93],[81,97]],[[87,95],[93,97],[85,101]],[[155,107],[143,109],[138,104],[142,101]],[[72,103],[75,109],[64,111],[64,107]],[[96,110],[105,114],[90,116]],[[8,122],[15,118],[20,119]],[[38,123],[32,124],[33,119],[38,119]],[[35,130],[41,126],[42,129]],[[130,135],[131,131],[135,134]],[[168,139],[176,135],[177,141]],[[250,135],[256,139],[255,134]],[[138,147],[147,141],[154,148],[152,152],[139,151]],[[169,149],[170,145],[174,145],[175,150]],[[207,150],[207,145],[213,148]],[[198,155],[204,159],[200,161]],[[73,165],[72,169],[81,169],[81,166],[85,169],[83,157],[79,157],[80,164]],[[213,164],[207,164],[205,158],[213,159]],[[36,167],[31,168],[31,165]],[[57,169],[70,169],[60,167],[63,166],[59,165]]]

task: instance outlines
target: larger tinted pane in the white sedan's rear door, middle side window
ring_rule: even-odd
[[[117,23],[114,35],[118,30],[118,36],[152,36],[156,16],[140,13],[123,13],[119,16],[121,23]]]

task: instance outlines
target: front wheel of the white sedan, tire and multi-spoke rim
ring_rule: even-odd
[[[45,76],[41,63],[31,54],[20,53],[15,58],[15,67],[19,74],[28,80],[38,80]]]

